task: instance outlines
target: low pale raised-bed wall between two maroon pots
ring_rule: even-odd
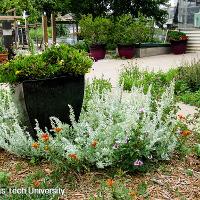
[[[135,49],[135,57],[137,58],[169,54],[171,52],[170,44],[162,43],[141,43],[137,44]]]

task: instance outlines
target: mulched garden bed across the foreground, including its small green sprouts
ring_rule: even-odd
[[[49,180],[49,187],[54,188],[53,175],[56,172],[54,167],[48,162],[34,164],[28,160],[18,158],[5,151],[0,151],[0,172],[9,173],[8,187],[33,187],[36,181],[42,185],[45,180]],[[188,156],[184,160],[179,160],[176,156],[172,162],[163,163],[149,173],[127,174],[123,171],[114,172],[112,170],[91,171],[84,174],[57,172],[57,185],[65,189],[64,195],[60,199],[89,199],[95,198],[100,186],[114,175],[114,181],[119,182],[118,187],[128,188],[133,195],[132,199],[198,199],[199,188],[199,167],[200,161],[194,156]],[[43,175],[41,177],[41,175]],[[41,187],[39,187],[41,188]],[[109,188],[105,197],[109,195]],[[121,195],[123,191],[121,191]],[[33,195],[25,196],[24,199],[39,199]],[[22,195],[15,195],[13,199],[22,199]],[[43,200],[48,200],[49,196],[43,195]],[[52,198],[58,199],[56,198]],[[92,198],[91,198],[92,199]]]

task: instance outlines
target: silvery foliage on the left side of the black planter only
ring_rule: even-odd
[[[0,85],[0,148],[19,156],[33,156],[30,137],[18,121],[18,110],[9,85]]]

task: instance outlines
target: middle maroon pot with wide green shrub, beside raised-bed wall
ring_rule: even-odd
[[[115,23],[113,37],[118,47],[119,56],[130,59],[134,57],[136,43],[144,43],[152,40],[152,25],[142,15],[137,19],[133,19],[128,14],[122,15]]]

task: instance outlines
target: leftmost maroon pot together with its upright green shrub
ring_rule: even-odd
[[[112,29],[110,19],[96,17],[92,15],[83,16],[79,22],[81,36],[89,45],[90,56],[95,60],[105,58],[106,43]]]

